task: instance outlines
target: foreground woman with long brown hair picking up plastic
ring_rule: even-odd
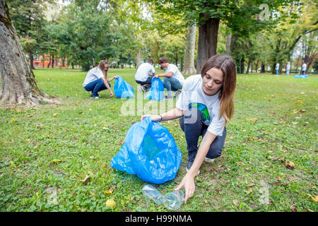
[[[222,153],[225,124],[234,112],[236,86],[235,61],[227,55],[216,55],[204,64],[201,75],[184,81],[176,108],[160,115],[143,115],[152,121],[179,119],[187,141],[187,174],[175,190],[185,189],[184,202],[194,194],[194,177],[202,162],[213,162]],[[198,150],[199,136],[202,141]]]

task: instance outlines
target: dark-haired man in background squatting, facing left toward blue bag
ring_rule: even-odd
[[[166,57],[160,57],[158,63],[165,69],[165,73],[160,73],[155,75],[155,78],[164,77],[163,85],[167,89],[167,96],[165,99],[172,99],[172,92],[175,91],[175,97],[177,97],[182,90],[182,86],[184,83],[184,76],[179,71],[175,64],[169,64],[169,61]]]

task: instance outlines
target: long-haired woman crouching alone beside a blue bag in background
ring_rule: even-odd
[[[100,64],[98,64],[98,66],[95,66],[95,68],[88,71],[83,83],[83,88],[85,88],[87,91],[92,92],[90,98],[98,99],[100,97],[100,95],[98,95],[98,92],[106,89],[110,90],[110,97],[113,97],[114,94],[110,89],[111,85],[109,82],[112,81],[114,78],[117,78],[117,76],[107,79],[107,73],[108,64],[105,60],[100,61]]]

